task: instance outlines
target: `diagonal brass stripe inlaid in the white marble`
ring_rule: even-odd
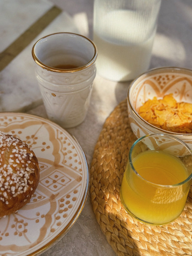
[[[2,71],[31,41],[41,33],[52,20],[61,13],[61,9],[53,6],[41,18],[33,23],[22,35],[0,53],[0,71]]]

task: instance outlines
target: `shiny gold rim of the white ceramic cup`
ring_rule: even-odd
[[[48,65],[45,65],[40,59],[38,59],[38,57],[36,56],[36,53],[35,53],[35,48],[37,47],[37,45],[45,40],[46,38],[50,37],[50,36],[54,36],[54,35],[59,35],[59,34],[69,34],[69,35],[75,35],[75,36],[79,36],[81,38],[85,38],[88,42],[90,42],[92,44],[92,46],[94,47],[94,55],[92,57],[92,59],[86,63],[85,65],[82,65],[80,67],[77,67],[77,68],[70,68],[70,69],[60,69],[60,68],[53,68],[51,66],[48,66]],[[89,67],[91,64],[93,64],[95,62],[95,60],[97,59],[97,48],[95,46],[95,44],[93,43],[93,41],[91,41],[91,39],[85,37],[84,35],[80,35],[80,34],[76,34],[76,33],[71,33],[71,32],[58,32],[58,33],[52,33],[52,34],[49,34],[49,35],[46,35],[42,38],[40,38],[32,47],[32,57],[34,59],[34,61],[39,65],[41,66],[42,68],[46,69],[46,70],[49,70],[49,71],[53,71],[53,72],[58,72],[58,73],[72,73],[72,72],[76,72],[76,71],[80,71],[80,70],[83,70],[87,67]]]

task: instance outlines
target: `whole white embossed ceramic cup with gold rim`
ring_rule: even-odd
[[[32,56],[48,118],[63,128],[82,123],[96,75],[95,44],[82,35],[55,33],[38,40]]]

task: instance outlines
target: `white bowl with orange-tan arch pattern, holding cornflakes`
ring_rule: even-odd
[[[128,116],[137,138],[151,133],[166,133],[178,137],[192,149],[192,133],[182,134],[157,128],[146,122],[139,108],[149,99],[163,98],[172,93],[177,102],[192,103],[192,70],[184,68],[157,68],[137,77],[128,89]]]

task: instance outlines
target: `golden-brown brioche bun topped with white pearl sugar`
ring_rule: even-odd
[[[21,209],[39,183],[39,164],[29,146],[0,131],[0,217]]]

